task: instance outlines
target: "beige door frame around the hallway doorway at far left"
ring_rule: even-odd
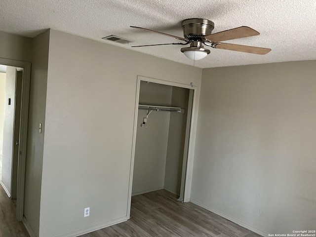
[[[20,139],[19,139],[19,158],[18,158],[18,179],[17,179],[17,198],[16,198],[16,218],[18,221],[23,219],[24,209],[24,185],[25,185],[25,163],[27,149],[27,132],[29,117],[29,98],[30,98],[30,79],[31,63],[0,58],[0,64],[23,68],[22,82],[22,103],[20,117]]]

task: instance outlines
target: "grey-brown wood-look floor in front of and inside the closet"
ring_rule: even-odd
[[[261,237],[165,190],[132,197],[131,219],[80,237]]]

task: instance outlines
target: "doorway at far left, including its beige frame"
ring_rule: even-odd
[[[0,184],[16,199],[16,218],[22,221],[31,64],[0,58],[0,65]]]

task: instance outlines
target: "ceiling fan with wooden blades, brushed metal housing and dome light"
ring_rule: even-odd
[[[192,60],[200,60],[207,56],[210,53],[210,50],[204,48],[203,44],[206,46],[210,46],[212,48],[220,48],[220,49],[227,49],[245,53],[255,53],[255,54],[267,54],[271,51],[270,48],[261,48],[261,47],[253,47],[247,45],[240,45],[240,44],[232,44],[232,43],[222,43],[220,41],[225,40],[234,40],[239,38],[245,38],[249,36],[258,36],[260,35],[259,32],[251,29],[247,26],[241,26],[238,28],[234,28],[227,31],[218,32],[215,34],[211,34],[212,30],[214,29],[214,23],[210,20],[206,19],[198,19],[198,18],[191,18],[183,20],[181,23],[183,35],[182,37],[177,37],[169,34],[165,34],[162,32],[131,26],[132,28],[150,31],[153,33],[161,34],[164,36],[169,36],[175,38],[177,40],[183,40],[183,43],[161,43],[161,44],[149,44],[149,45],[138,45],[132,47],[145,47],[145,46],[155,46],[155,45],[167,45],[167,44],[180,44],[180,45],[187,45],[190,44],[190,47],[181,48],[181,52],[184,53],[185,56]]]

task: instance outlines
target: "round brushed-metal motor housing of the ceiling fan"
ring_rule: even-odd
[[[186,39],[198,39],[211,35],[214,22],[206,19],[191,18],[181,23],[183,35]]]

